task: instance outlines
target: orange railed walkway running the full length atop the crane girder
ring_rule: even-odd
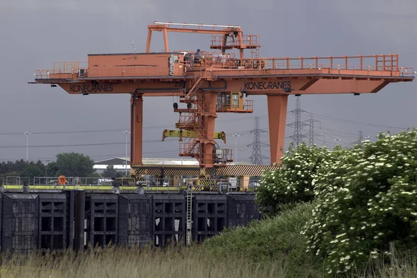
[[[252,40],[252,39],[251,39]],[[195,52],[188,53],[194,57]],[[175,76],[194,76],[195,71],[213,70],[319,70],[321,74],[357,74],[372,76],[414,76],[414,67],[400,67],[398,54],[373,56],[328,56],[298,58],[243,58],[220,51],[202,51],[201,60],[187,60]],[[78,79],[83,77],[170,76],[170,67],[85,67],[86,62],[54,63],[52,70],[37,70],[36,79]],[[236,71],[239,72],[239,71]],[[274,72],[271,72],[274,74]],[[305,72],[304,72],[305,73]],[[230,73],[229,73],[230,74]],[[250,73],[247,73],[250,74]],[[295,72],[292,72],[295,74]]]

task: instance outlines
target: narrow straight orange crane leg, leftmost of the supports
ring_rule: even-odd
[[[131,96],[131,165],[142,165],[142,127],[143,127],[142,94]]]

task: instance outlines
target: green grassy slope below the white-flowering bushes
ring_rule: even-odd
[[[305,240],[300,234],[311,219],[313,208],[314,204],[298,204],[274,218],[227,229],[205,240],[203,247],[218,256],[236,254],[236,259],[247,258],[256,263],[279,261],[287,277],[316,277],[319,263],[306,253]]]

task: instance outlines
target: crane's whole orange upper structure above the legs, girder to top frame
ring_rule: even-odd
[[[163,32],[164,52],[150,51],[154,31]],[[170,51],[167,32],[213,34],[210,49],[218,51]],[[259,35],[243,35],[236,25],[154,22],[148,26],[145,53],[89,54],[84,63],[54,63],[51,70],[37,70],[34,83],[58,84],[70,94],[132,93],[140,87],[146,96],[172,96],[182,95],[190,79],[201,78],[202,90],[301,95],[338,93],[329,88],[353,79],[368,81],[359,88],[361,93],[376,92],[387,83],[412,81],[415,74],[413,67],[398,65],[398,54],[260,58],[259,48]],[[229,49],[239,54],[226,52]],[[244,49],[251,51],[250,57],[244,56]],[[336,81],[317,82],[320,79]],[[345,84],[345,92],[354,91]]]

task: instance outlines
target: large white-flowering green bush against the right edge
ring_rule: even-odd
[[[417,130],[378,138],[341,153],[313,180],[318,205],[302,234],[328,275],[389,259],[389,243],[417,247]]]

